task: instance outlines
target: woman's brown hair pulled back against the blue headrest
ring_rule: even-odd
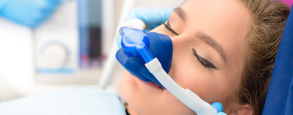
[[[247,34],[249,56],[241,86],[235,96],[240,104],[251,105],[254,114],[263,112],[277,49],[290,8],[274,0],[240,0],[251,15]]]

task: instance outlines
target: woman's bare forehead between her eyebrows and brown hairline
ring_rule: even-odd
[[[187,18],[184,31],[207,33],[222,45],[228,58],[245,54],[249,12],[240,1],[189,0],[180,8]]]

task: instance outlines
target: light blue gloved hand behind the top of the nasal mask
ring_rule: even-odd
[[[166,22],[172,12],[173,8],[134,8],[129,12],[125,21],[138,18],[150,27],[144,30],[149,32],[151,29]],[[117,37],[117,44],[121,48],[121,37]]]

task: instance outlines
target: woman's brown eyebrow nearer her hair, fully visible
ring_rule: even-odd
[[[216,50],[220,54],[224,62],[226,62],[226,56],[223,52],[223,47],[219,43],[217,43],[212,37],[208,36],[202,31],[198,31],[196,33],[196,36],[200,40],[204,41],[207,45],[211,46],[214,50]]]

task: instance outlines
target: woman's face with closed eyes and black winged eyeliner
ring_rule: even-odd
[[[169,75],[212,104],[230,108],[246,56],[248,10],[233,0],[189,0],[151,32],[173,42]],[[171,31],[170,31],[171,30]],[[167,90],[148,85],[125,71],[120,91],[132,114],[195,114]]]

